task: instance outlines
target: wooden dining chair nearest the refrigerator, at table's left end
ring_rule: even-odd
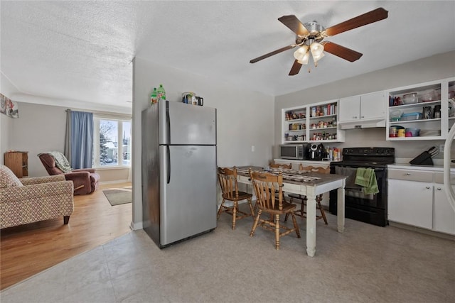
[[[251,204],[252,194],[247,192],[240,192],[237,185],[237,168],[233,167],[231,170],[228,167],[218,167],[218,182],[220,182],[221,191],[223,192],[223,202],[221,202],[220,209],[218,209],[217,219],[220,219],[222,212],[228,213],[232,216],[232,229],[235,229],[235,221],[243,219],[247,216],[255,216]],[[240,211],[239,201],[247,200],[250,206],[250,214]],[[232,206],[225,206],[225,201],[232,201]]]

